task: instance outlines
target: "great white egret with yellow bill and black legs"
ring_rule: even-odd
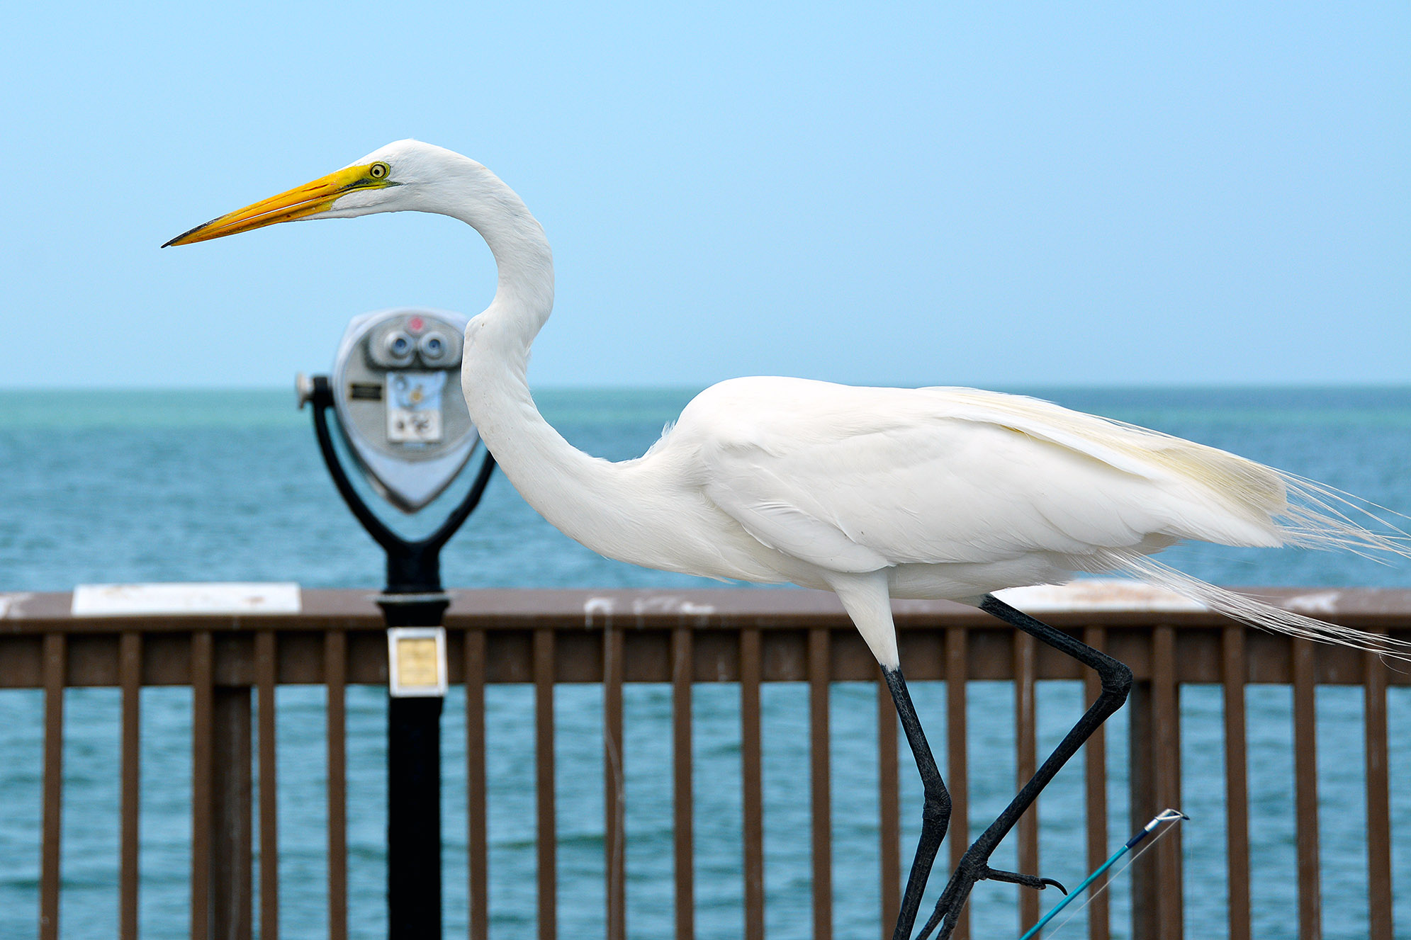
[[[902,675],[892,597],[978,605],[1102,677],[1098,700],[967,850],[920,937],[937,924],[948,936],[976,881],[1057,884],[993,871],[989,855],[1132,683],[1122,663],[992,591],[1120,570],[1260,627],[1401,655],[1393,641],[1276,610],[1149,558],[1182,539],[1404,555],[1400,534],[1352,524],[1332,505],[1338,494],[1318,484],[1033,398],[737,378],[697,395],[642,457],[610,463],[576,450],[539,415],[525,380],[529,344],[553,308],[543,229],[498,176],[440,147],[388,144],[166,244],[402,210],[460,219],[494,253],[498,289],[466,327],[461,384],[481,438],[529,505],[608,558],[837,593],[882,666],[924,785],[897,940],[912,934],[950,796]]]

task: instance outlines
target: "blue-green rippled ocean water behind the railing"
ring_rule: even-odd
[[[1225,447],[1411,514],[1411,388],[1276,390],[1016,390]],[[689,401],[691,390],[545,391],[545,415],[584,450],[641,454]],[[296,580],[308,587],[377,587],[382,559],[334,493],[309,414],[275,391],[0,392],[0,591],[71,590],[79,583]],[[408,532],[435,525],[457,491],[425,517],[388,517]],[[1411,563],[1377,565],[1319,552],[1180,546],[1164,556],[1225,584],[1407,586]],[[529,510],[502,477],[443,555],[447,584],[464,587],[680,587],[714,582],[602,559],[567,541]],[[944,727],[944,685],[913,690],[930,728]],[[670,908],[670,754],[667,690],[626,689],[628,924],[635,937],[667,936]],[[766,896],[770,937],[807,937],[809,844],[806,689],[766,686]],[[531,690],[488,692],[491,773],[491,912],[495,937],[533,929],[533,762]],[[1013,788],[1012,692],[971,683],[972,827],[983,826]],[[873,689],[832,690],[834,896],[841,937],[878,932]],[[322,785],[323,696],[278,693],[281,933],[326,932]],[[559,892],[562,936],[602,933],[601,696],[556,692],[559,733]],[[181,937],[189,903],[189,693],[143,694],[141,926],[144,937]],[[1411,696],[1394,689],[1391,773],[1395,888],[1411,878]],[[1038,693],[1040,748],[1057,744],[1082,709],[1077,683]],[[1254,932],[1295,934],[1291,696],[1254,687],[1250,709]],[[1218,689],[1182,690],[1184,830],[1188,936],[1225,934],[1223,793]],[[732,686],[696,693],[697,927],[735,937],[742,903],[738,781],[738,697]],[[1318,693],[1324,926],[1328,937],[1366,933],[1362,841],[1362,697],[1357,689]],[[0,937],[35,936],[40,862],[40,693],[0,693]],[[385,934],[382,844],[385,693],[349,693],[350,905],[354,936]],[[1125,838],[1126,720],[1109,721],[1113,845]],[[466,926],[463,699],[452,690],[443,718],[446,929]],[[934,734],[934,733],[933,733]],[[65,937],[117,930],[116,690],[71,690],[66,699],[63,908]],[[906,807],[920,793],[904,768]],[[943,768],[944,771],[944,768]],[[720,786],[718,781],[731,785]],[[1071,768],[1040,802],[1041,874],[1067,884],[1084,871],[1082,773]],[[907,824],[914,823],[904,813]],[[904,841],[912,843],[909,828]],[[943,850],[944,857],[944,850]],[[996,865],[1013,862],[1003,845]],[[1140,862],[1139,862],[1140,864]],[[928,898],[943,876],[933,878]],[[1125,936],[1127,879],[1113,888],[1115,936]],[[975,893],[976,936],[1017,936],[1016,889],[983,884]],[[1051,903],[1046,898],[1044,905]],[[1411,903],[1397,919],[1411,923]],[[1057,936],[1082,936],[1079,916]]]

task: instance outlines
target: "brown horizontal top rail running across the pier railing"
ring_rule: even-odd
[[[1133,669],[1137,679],[1165,675],[1154,652],[1157,639],[1174,655],[1165,680],[1223,682],[1223,644],[1240,627],[1175,596],[1144,587],[1094,586],[1024,589],[1010,600],[1050,624],[1101,635],[1105,651]],[[1411,591],[1373,589],[1268,589],[1263,597],[1340,624],[1384,631],[1411,641]],[[737,682],[746,639],[758,648],[766,682],[809,677],[810,634],[831,632],[832,680],[875,680],[876,662],[832,594],[803,590],[453,590],[446,615],[450,680],[463,680],[468,634],[483,634],[485,682],[531,682],[536,635],[553,634],[563,653],[555,682],[601,682],[605,631],[621,631],[626,682],[673,677],[672,637],[696,637],[693,682]],[[65,685],[119,683],[119,641],[141,637],[143,685],[189,685],[196,639],[213,638],[216,683],[251,685],[255,641],[275,634],[279,683],[322,683],[327,637],[343,635],[351,683],[387,682],[385,621],[371,590],[306,590],[299,613],[282,614],[124,614],[75,617],[66,593],[0,594],[0,687],[38,687],[44,644],[68,638]],[[1077,601],[1077,603],[1075,603]],[[944,679],[945,649],[964,631],[967,679],[1015,677],[1015,631],[962,604],[897,601],[896,622],[907,676]],[[1295,644],[1288,637],[1243,628],[1247,666],[1243,682],[1288,683]],[[540,637],[542,638],[542,637]],[[758,638],[758,641],[755,639]],[[1373,659],[1374,662],[1374,659]],[[1345,646],[1321,646],[1315,682],[1362,685],[1367,655]],[[1040,651],[1038,679],[1082,679],[1068,656]],[[1411,685],[1411,672],[1377,663],[1390,685]]]

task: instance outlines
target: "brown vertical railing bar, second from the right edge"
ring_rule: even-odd
[[[1291,641],[1294,652],[1294,805],[1298,844],[1298,936],[1322,937],[1322,888],[1318,876],[1318,710],[1316,648]]]

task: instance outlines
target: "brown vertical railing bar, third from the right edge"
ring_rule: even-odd
[[[1249,752],[1245,728],[1245,624],[1228,624],[1222,639],[1225,699],[1225,858],[1230,940],[1252,940],[1249,868]]]

